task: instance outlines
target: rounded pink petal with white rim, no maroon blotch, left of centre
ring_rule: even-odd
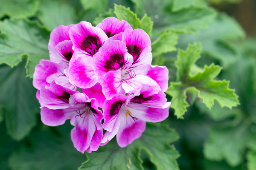
[[[69,78],[79,88],[93,87],[97,83],[93,71],[93,58],[79,57],[70,65]]]

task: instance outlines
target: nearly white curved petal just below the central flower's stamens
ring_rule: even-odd
[[[125,90],[125,93],[134,92],[134,90],[138,90],[144,85],[152,88],[152,91],[156,93],[161,90],[157,82],[143,75],[136,74],[136,77],[122,82],[122,88]]]

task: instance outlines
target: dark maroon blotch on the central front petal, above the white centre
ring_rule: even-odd
[[[103,65],[105,71],[115,71],[121,68],[125,64],[124,56],[122,54],[111,54]]]

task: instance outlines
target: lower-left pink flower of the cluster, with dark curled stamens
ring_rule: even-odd
[[[41,120],[45,125],[63,125],[67,119],[74,126],[71,139],[81,153],[96,151],[102,140],[103,115],[96,99],[52,82],[40,91]]]

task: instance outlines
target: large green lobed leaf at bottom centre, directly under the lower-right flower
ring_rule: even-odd
[[[143,170],[139,157],[141,149],[145,150],[157,170],[178,170],[176,159],[179,154],[169,145],[177,138],[177,133],[166,126],[147,124],[143,135],[127,147],[119,147],[112,139],[98,151],[87,153],[88,160],[79,170]]]

